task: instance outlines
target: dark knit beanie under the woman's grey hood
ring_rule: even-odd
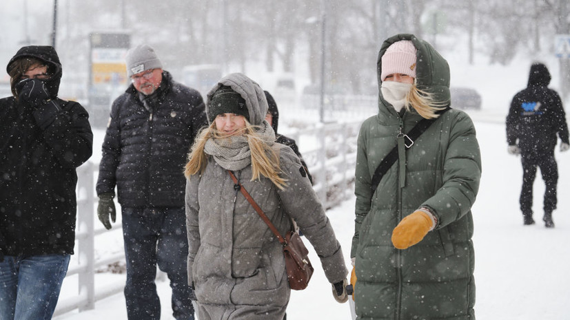
[[[247,111],[245,99],[227,85],[221,86],[210,99],[208,104],[208,118],[214,121],[218,114],[239,114],[250,121],[250,113]]]

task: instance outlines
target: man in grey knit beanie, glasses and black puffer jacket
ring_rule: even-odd
[[[203,99],[174,81],[149,45],[130,49],[126,61],[132,85],[112,105],[96,185],[97,214],[110,229],[116,215],[116,185],[127,262],[128,318],[160,319],[154,284],[158,264],[170,279],[174,318],[194,319],[185,272],[182,168],[196,133],[206,125]]]

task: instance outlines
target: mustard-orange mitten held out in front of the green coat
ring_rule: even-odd
[[[434,219],[423,209],[416,210],[405,217],[394,231],[392,231],[392,244],[398,249],[407,249],[422,241],[435,226]]]

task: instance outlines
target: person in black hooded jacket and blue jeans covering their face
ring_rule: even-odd
[[[0,99],[0,319],[51,319],[75,240],[76,168],[92,153],[88,113],[57,98],[53,47],[22,47]]]

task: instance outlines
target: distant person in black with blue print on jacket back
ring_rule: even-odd
[[[511,154],[520,154],[522,162],[520,210],[524,224],[534,224],[532,187],[536,167],[540,167],[542,179],[546,184],[542,220],[547,228],[554,227],[552,211],[556,209],[557,202],[558,167],[554,158],[556,134],[558,133],[562,140],[560,151],[567,151],[570,147],[562,100],[556,91],[549,89],[550,79],[546,65],[531,65],[527,88],[513,97],[507,116],[508,151]]]

